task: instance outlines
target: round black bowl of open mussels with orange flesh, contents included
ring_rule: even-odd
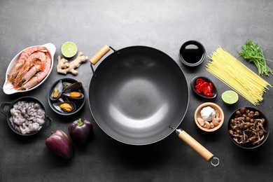
[[[62,78],[50,87],[48,104],[55,113],[70,116],[83,108],[85,95],[83,83],[72,78]]]

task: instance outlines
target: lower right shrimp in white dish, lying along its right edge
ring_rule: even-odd
[[[51,67],[51,59],[49,55],[47,55],[46,61],[45,61],[45,68],[43,69],[43,71],[39,71],[38,73],[36,73],[35,76],[33,76],[24,85],[22,85],[22,87],[19,87],[18,90],[28,90],[29,88],[34,87],[35,85],[40,83],[41,80],[43,80],[43,78],[45,78],[45,76],[48,75],[50,71],[50,67]]]

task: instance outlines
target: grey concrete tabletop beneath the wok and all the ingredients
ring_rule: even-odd
[[[92,57],[102,45],[120,49],[130,45],[147,45],[166,52],[178,62],[188,83],[195,75],[209,76],[221,94],[230,88],[204,69],[209,57],[197,69],[179,62],[181,44],[197,40],[207,55],[218,45],[235,57],[241,45],[251,38],[273,58],[273,1],[0,1],[0,83],[5,80],[10,60],[31,45],[54,43],[57,55],[65,41],[73,41],[78,50]],[[244,62],[253,71],[255,66]],[[273,68],[273,63],[268,62]],[[213,133],[204,133],[194,123],[193,115],[203,102],[190,91],[188,112],[179,127],[192,135],[221,160],[212,167],[176,134],[148,146],[121,144],[106,135],[94,122],[88,101],[76,116],[54,113],[45,97],[59,78],[75,78],[86,90],[92,77],[90,64],[78,68],[78,76],[63,76],[53,69],[41,87],[25,94],[6,95],[0,90],[0,102],[11,102],[23,95],[41,100],[53,120],[50,130],[35,137],[14,134],[6,118],[0,115],[0,181],[273,181],[272,135],[256,150],[241,150],[228,137],[227,125]],[[265,77],[269,83],[272,76]],[[252,106],[243,97],[234,106],[226,106],[217,97],[225,118],[240,106]],[[273,91],[264,94],[256,108],[272,124]],[[94,139],[85,148],[76,147],[71,161],[53,155],[45,139],[55,130],[67,131],[77,118],[91,120]],[[270,128],[272,130],[272,125]]]

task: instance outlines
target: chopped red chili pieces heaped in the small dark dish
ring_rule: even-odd
[[[207,97],[213,97],[214,94],[212,93],[213,85],[212,83],[208,83],[207,81],[203,80],[202,78],[197,78],[195,81],[195,91],[198,94],[203,93]]]

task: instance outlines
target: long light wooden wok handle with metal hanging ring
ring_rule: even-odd
[[[210,161],[211,165],[213,166],[218,166],[219,165],[219,160],[218,158],[215,158],[214,155],[207,150],[207,148],[204,148],[198,141],[193,139],[193,137],[190,137],[190,135],[179,129],[176,130],[176,134],[178,134],[179,138],[182,139],[183,141],[188,144],[193,150],[195,150],[197,153],[199,153],[205,160]]]

